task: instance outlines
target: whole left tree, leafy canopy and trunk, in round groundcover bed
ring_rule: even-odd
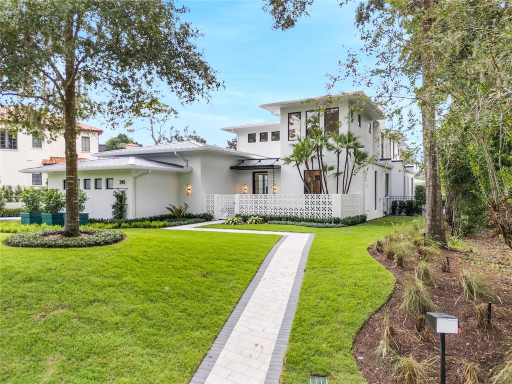
[[[117,125],[162,89],[183,103],[222,84],[172,0],[3,0],[2,103],[26,131],[44,122],[66,140],[65,236],[78,236],[77,118]],[[161,83],[164,86],[161,86]]]

